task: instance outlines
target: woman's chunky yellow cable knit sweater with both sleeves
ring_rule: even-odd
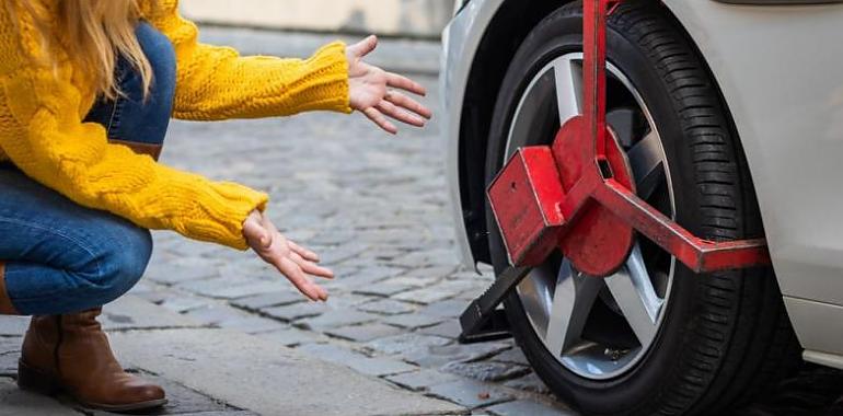
[[[143,19],[176,50],[174,117],[350,112],[343,44],[330,44],[307,60],[240,57],[231,48],[198,43],[196,25],[177,13],[177,0],[140,3]],[[11,160],[26,175],[85,207],[143,228],[244,250],[242,222],[252,210],[264,209],[266,194],[171,169],[108,143],[102,126],[82,123],[95,101],[84,68],[73,68],[67,59],[60,59],[56,71],[34,66],[31,58],[42,45],[25,16],[0,5],[0,161]]]

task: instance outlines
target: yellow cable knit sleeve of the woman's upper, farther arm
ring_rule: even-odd
[[[255,118],[327,109],[349,113],[345,45],[335,42],[309,59],[241,57],[200,44],[177,0],[157,0],[145,15],[176,50],[174,116],[186,119]]]

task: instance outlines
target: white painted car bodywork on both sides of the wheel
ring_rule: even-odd
[[[473,0],[446,30],[448,174],[458,240],[471,266],[459,207],[460,116],[477,45],[504,1]],[[835,216],[843,212],[836,181],[843,177],[836,171],[843,164],[843,4],[663,3],[705,57],[732,114],[806,358],[843,356],[843,332],[817,321],[843,322],[843,219]]]

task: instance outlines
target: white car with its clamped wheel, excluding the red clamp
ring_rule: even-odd
[[[506,266],[486,185],[581,111],[581,9],[457,2],[441,88],[466,265]],[[608,55],[638,195],[706,239],[766,236],[773,267],[695,275],[642,238],[605,279],[554,255],[505,302],[536,373],[588,415],[711,415],[801,359],[843,368],[843,1],[624,0]]]

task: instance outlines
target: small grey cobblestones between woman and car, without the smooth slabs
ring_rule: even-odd
[[[224,39],[224,33],[215,36]],[[427,103],[435,106],[435,76],[419,80],[431,92]],[[266,190],[269,216],[288,236],[321,253],[337,278],[325,284],[331,293],[326,304],[311,303],[251,253],[155,232],[152,263],[132,293],[206,327],[253,334],[459,404],[466,413],[573,415],[548,394],[511,340],[455,342],[457,316],[492,276],[458,266],[443,148],[436,120],[424,130],[405,128],[399,137],[379,132],[362,117],[326,113],[175,123],[164,163]],[[0,338],[0,353],[13,350],[19,340]],[[0,354],[0,403],[13,374],[9,357]],[[165,414],[250,414],[220,397],[159,380],[174,402]],[[817,370],[795,383],[840,380],[838,373]],[[777,408],[813,414],[804,409],[818,408],[818,401],[783,393],[746,414],[783,414]]]

